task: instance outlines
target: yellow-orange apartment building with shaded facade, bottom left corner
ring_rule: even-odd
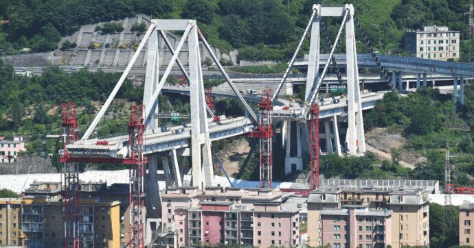
[[[100,199],[81,199],[79,203],[82,246],[120,247],[120,203]],[[0,219],[2,245],[19,245],[21,229],[27,236],[27,247],[63,246],[65,212],[58,199],[32,196],[0,199],[0,208],[2,217],[5,216]]]

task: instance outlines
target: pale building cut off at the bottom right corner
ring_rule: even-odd
[[[474,203],[464,203],[459,208],[459,245],[474,246]]]

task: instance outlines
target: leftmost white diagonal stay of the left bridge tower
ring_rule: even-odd
[[[135,60],[137,60],[138,55],[140,54],[143,47],[145,46],[146,41],[148,40],[151,33],[155,30],[156,27],[157,26],[155,25],[155,23],[150,24],[150,27],[148,27],[148,31],[146,31],[146,34],[143,37],[142,42],[140,42],[140,45],[137,48],[137,51],[135,51],[135,54],[133,54],[132,59],[130,60],[130,62],[128,62],[128,65],[126,66],[126,69],[125,69],[124,73],[122,74],[122,77],[120,77],[117,84],[115,84],[115,88],[113,88],[113,90],[111,92],[111,95],[109,95],[109,98],[107,98],[104,105],[100,109],[99,113],[95,116],[95,118],[92,121],[91,125],[87,128],[87,131],[84,133],[84,136],[82,136],[82,138],[80,140],[87,140],[87,138],[89,138],[89,136],[92,134],[92,131],[94,130],[95,126],[97,126],[100,119],[102,119],[102,116],[104,116],[107,108],[109,108],[113,98],[115,97],[115,95],[117,95],[117,92],[120,89],[120,87],[122,86],[122,84],[124,83],[124,81],[126,79],[126,76],[128,75],[128,73],[132,69],[133,64],[135,64]]]

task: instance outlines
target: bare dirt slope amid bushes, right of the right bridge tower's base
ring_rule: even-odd
[[[426,158],[420,156],[414,149],[405,149],[407,139],[401,135],[401,132],[401,129],[395,129],[389,132],[385,127],[377,127],[365,134],[365,142],[371,147],[372,152],[383,160],[392,159],[392,153],[390,151],[392,147],[403,149],[403,163],[400,164],[413,169],[416,163],[425,162]]]

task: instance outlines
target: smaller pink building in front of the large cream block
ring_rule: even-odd
[[[321,243],[330,247],[386,247],[392,244],[392,210],[345,205],[321,210]]]

